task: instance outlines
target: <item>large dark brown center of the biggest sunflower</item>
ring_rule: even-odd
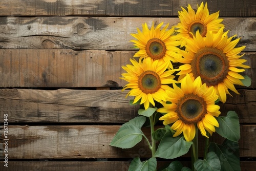
[[[200,49],[191,61],[192,73],[200,76],[207,86],[215,86],[223,82],[229,71],[229,62],[226,55],[219,49]]]

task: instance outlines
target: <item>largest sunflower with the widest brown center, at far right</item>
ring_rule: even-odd
[[[183,57],[177,56],[176,60],[184,63],[177,73],[179,82],[187,73],[193,79],[200,76],[206,86],[214,86],[220,101],[225,103],[226,94],[231,95],[228,89],[239,94],[234,84],[244,86],[241,81],[244,77],[239,73],[245,71],[242,68],[250,67],[243,65],[245,59],[240,59],[244,54],[238,55],[245,46],[234,48],[240,38],[232,40],[236,35],[228,38],[228,32],[223,33],[223,29],[217,34],[208,32],[206,37],[197,31],[193,40],[186,40],[186,51],[180,50]]]

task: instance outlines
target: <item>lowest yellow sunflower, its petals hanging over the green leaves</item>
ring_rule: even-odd
[[[164,125],[174,123],[170,127],[176,131],[174,137],[183,132],[185,140],[192,141],[197,126],[201,134],[208,138],[206,131],[212,135],[216,131],[215,126],[219,127],[215,117],[220,115],[220,106],[215,104],[218,95],[214,87],[208,88],[205,83],[202,84],[200,77],[193,81],[188,74],[182,80],[181,88],[175,83],[173,87],[166,90],[166,100],[172,103],[161,102],[163,108],[157,110],[166,113],[159,120],[164,120]]]

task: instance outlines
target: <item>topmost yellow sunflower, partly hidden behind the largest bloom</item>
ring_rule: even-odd
[[[218,18],[219,11],[209,15],[207,3],[205,6],[203,3],[200,6],[197,5],[197,12],[190,5],[188,5],[187,11],[183,7],[181,8],[183,11],[178,12],[180,23],[174,26],[177,28],[178,37],[193,39],[197,31],[204,37],[208,31],[217,33],[224,26],[221,24],[223,19]]]

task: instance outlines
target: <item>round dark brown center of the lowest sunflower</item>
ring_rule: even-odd
[[[177,114],[186,124],[197,123],[206,114],[206,102],[203,98],[188,94],[182,97],[177,103]]]

